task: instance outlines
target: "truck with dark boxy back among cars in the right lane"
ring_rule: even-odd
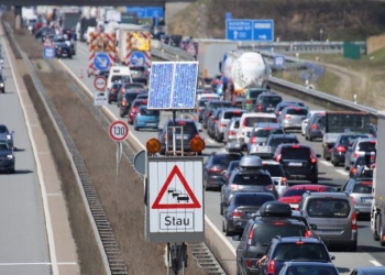
[[[367,112],[327,111],[324,114],[322,148],[323,158],[330,161],[331,150],[342,133],[371,134],[371,118]]]

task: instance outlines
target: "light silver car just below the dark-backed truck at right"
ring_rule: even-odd
[[[356,139],[346,150],[344,164],[345,169],[350,169],[360,155],[365,155],[366,152],[375,152],[376,144],[377,140],[374,138]]]

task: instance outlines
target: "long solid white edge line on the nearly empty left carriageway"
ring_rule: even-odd
[[[53,275],[58,275],[59,272],[58,272],[57,258],[56,258],[54,231],[53,231],[53,228],[52,228],[52,221],[51,221],[50,209],[48,209],[48,201],[47,201],[47,193],[46,193],[46,189],[45,189],[45,183],[44,183],[44,178],[43,178],[42,165],[41,165],[41,163],[38,161],[36,143],[35,143],[35,140],[33,138],[33,134],[32,134],[32,129],[31,129],[31,125],[30,125],[29,117],[26,116],[26,110],[25,110],[25,107],[24,107],[24,102],[21,99],[20,87],[19,87],[19,84],[16,81],[13,64],[11,63],[10,54],[8,52],[8,47],[6,46],[3,36],[1,36],[1,42],[2,42],[2,45],[4,45],[6,56],[8,56],[8,61],[9,61],[10,68],[11,68],[11,74],[12,74],[12,79],[13,79],[14,86],[16,88],[20,106],[21,106],[21,108],[23,110],[25,125],[26,125],[26,129],[28,129],[28,132],[29,132],[29,136],[30,136],[30,140],[31,140],[31,145],[32,145],[32,152],[34,154],[34,158],[35,158],[35,163],[36,163],[37,177],[40,179],[38,183],[40,183],[41,193],[42,193],[42,200],[43,200],[43,210],[44,210],[45,226],[46,226],[46,230],[47,230],[50,257],[51,257],[51,261],[52,261],[52,274]]]

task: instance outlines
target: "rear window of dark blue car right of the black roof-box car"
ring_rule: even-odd
[[[279,262],[288,262],[297,258],[308,258],[330,262],[330,255],[322,243],[279,243],[273,258]]]

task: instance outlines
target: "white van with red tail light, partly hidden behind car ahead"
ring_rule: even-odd
[[[242,114],[240,130],[237,133],[237,140],[241,144],[241,148],[248,147],[250,140],[248,132],[251,132],[254,124],[260,122],[277,123],[277,117],[274,112],[244,112]]]

